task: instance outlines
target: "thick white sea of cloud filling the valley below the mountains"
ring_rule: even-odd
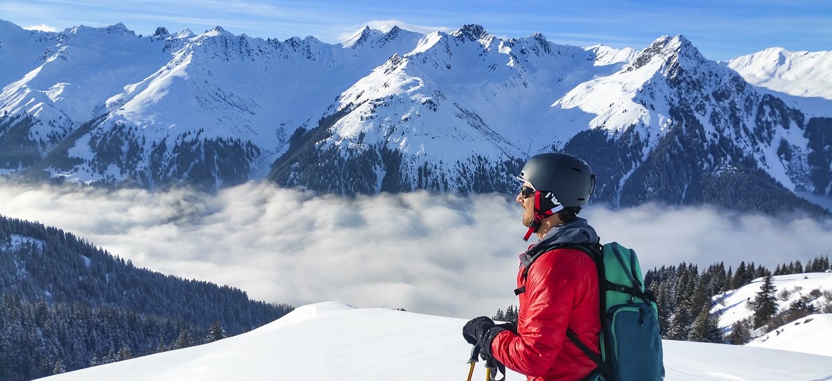
[[[503,195],[341,197],[247,183],[206,194],[0,181],[0,215],[56,226],[134,265],[302,305],[337,300],[451,317],[517,304],[522,210]],[[645,271],[681,261],[774,268],[832,251],[832,220],[711,208],[590,206]],[[533,240],[533,239],[532,239]]]

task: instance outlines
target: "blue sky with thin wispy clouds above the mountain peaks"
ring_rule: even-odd
[[[830,0],[665,1],[330,1],[274,0],[2,0],[0,19],[62,31],[122,22],[138,34],[156,27],[196,33],[217,25],[252,37],[318,37],[340,42],[363,25],[393,22],[416,32],[453,31],[478,23],[498,37],[542,32],[550,41],[589,46],[648,46],[682,34],[712,60],[766,47],[832,50]]]

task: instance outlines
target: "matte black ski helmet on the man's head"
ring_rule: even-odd
[[[589,196],[595,193],[592,168],[586,161],[565,153],[532,156],[518,179],[528,181],[535,190],[552,192],[566,208],[587,205]]]

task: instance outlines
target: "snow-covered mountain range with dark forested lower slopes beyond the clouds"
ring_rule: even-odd
[[[829,77],[824,52],[812,57]],[[0,173],[510,193],[528,156],[562,150],[590,162],[597,200],[612,205],[832,204],[832,100],[805,80],[818,72],[780,67],[785,94],[681,36],[636,51],[503,39],[479,25],[365,27],[327,44],[221,27],[140,37],[121,24],[31,32],[0,22],[0,59],[12,67],[0,74]]]

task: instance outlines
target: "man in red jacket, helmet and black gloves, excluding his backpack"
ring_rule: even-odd
[[[517,201],[528,227],[525,240],[537,234],[538,242],[520,255],[517,324],[497,325],[481,316],[465,324],[463,337],[480,345],[484,358],[496,359],[528,380],[595,379],[597,364],[567,339],[567,331],[599,353],[596,265],[581,250],[551,248],[597,245],[595,230],[577,217],[594,191],[595,176],[575,156],[546,153],[529,159],[518,179],[523,182]]]

